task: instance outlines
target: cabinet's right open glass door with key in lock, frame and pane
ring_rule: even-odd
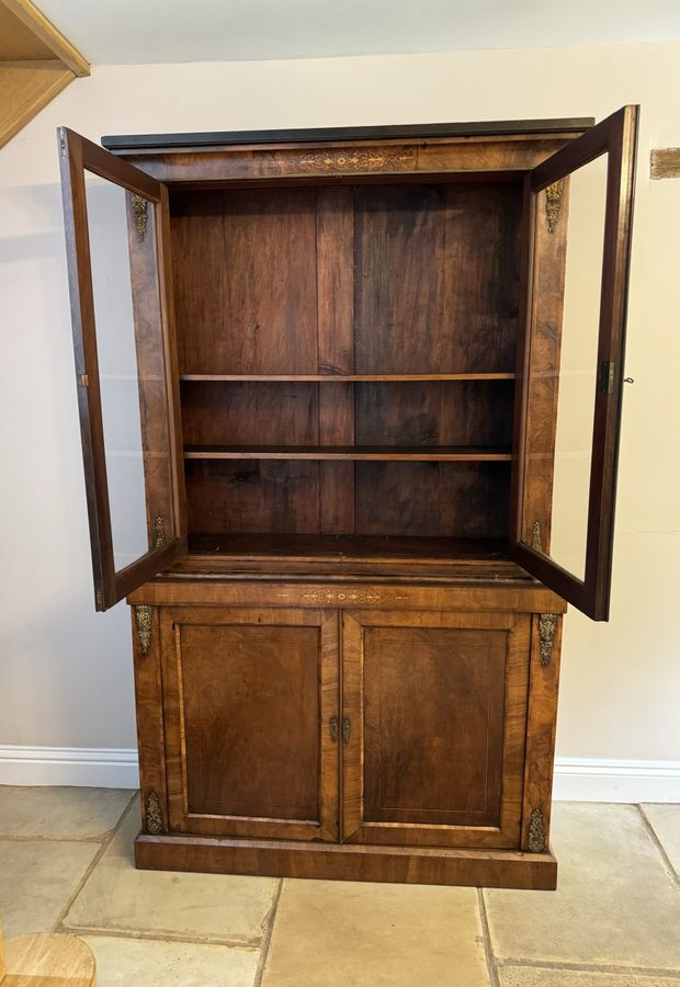
[[[526,179],[512,554],[596,621],[609,616],[636,136],[625,106]]]

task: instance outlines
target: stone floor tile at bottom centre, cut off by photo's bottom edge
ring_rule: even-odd
[[[473,888],[285,881],[262,987],[483,987]]]

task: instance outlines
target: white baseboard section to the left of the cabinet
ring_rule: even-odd
[[[111,747],[11,747],[0,744],[0,785],[138,789],[137,751]]]

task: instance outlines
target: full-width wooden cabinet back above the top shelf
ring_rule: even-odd
[[[175,192],[185,374],[513,372],[517,182]]]

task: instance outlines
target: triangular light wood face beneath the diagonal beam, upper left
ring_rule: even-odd
[[[0,147],[75,78],[58,59],[0,61]]]

